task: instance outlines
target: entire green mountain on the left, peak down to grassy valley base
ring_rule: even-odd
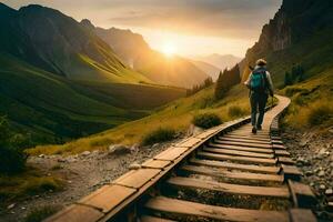
[[[36,144],[110,129],[185,94],[153,84],[79,22],[41,6],[0,3],[0,115]]]

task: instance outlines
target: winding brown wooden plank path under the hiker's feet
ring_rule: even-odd
[[[290,100],[278,99],[258,134],[249,118],[210,129],[47,221],[316,221],[315,196],[279,135]]]

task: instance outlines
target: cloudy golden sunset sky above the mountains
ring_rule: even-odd
[[[131,29],[151,48],[186,57],[212,53],[244,57],[282,0],[1,0],[19,9],[54,8],[78,21]]]

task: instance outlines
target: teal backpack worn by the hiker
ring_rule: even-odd
[[[265,93],[268,89],[268,80],[266,80],[266,70],[264,68],[259,68],[253,70],[250,85],[251,85],[251,91],[258,93]]]

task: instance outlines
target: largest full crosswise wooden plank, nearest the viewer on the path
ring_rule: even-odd
[[[164,196],[157,196],[148,201],[145,208],[158,212],[180,215],[203,216],[211,220],[235,222],[287,222],[289,214],[279,211],[259,211],[206,205],[190,201],[182,201]]]

